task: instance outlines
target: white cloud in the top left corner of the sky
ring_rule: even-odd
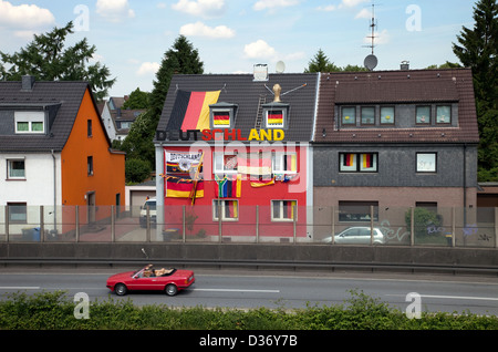
[[[33,33],[33,29],[45,28],[55,23],[55,18],[46,9],[35,4],[13,6],[0,0],[0,27],[19,31],[20,34]]]

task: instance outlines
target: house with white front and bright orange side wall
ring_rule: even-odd
[[[64,232],[74,206],[81,224],[107,217],[98,206],[125,204],[124,162],[86,82],[0,82],[0,222],[11,235],[40,222]]]

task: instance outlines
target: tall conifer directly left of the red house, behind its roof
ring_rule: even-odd
[[[179,35],[164,54],[149,95],[149,107],[133,123],[128,136],[122,144],[122,151],[125,151],[129,157],[148,161],[154,168],[153,141],[173,75],[203,73],[204,63],[199,59],[198,51],[184,35]]]

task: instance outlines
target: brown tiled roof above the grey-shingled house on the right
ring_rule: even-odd
[[[338,128],[334,106],[362,103],[458,102],[457,126]],[[325,136],[323,136],[325,132]],[[321,75],[317,143],[478,143],[469,69],[324,73]]]

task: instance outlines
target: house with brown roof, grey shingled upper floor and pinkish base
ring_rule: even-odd
[[[407,207],[471,224],[465,219],[469,211],[461,211],[477,206],[470,70],[324,73],[319,96],[315,207],[334,207],[336,224],[344,226],[382,224]]]

